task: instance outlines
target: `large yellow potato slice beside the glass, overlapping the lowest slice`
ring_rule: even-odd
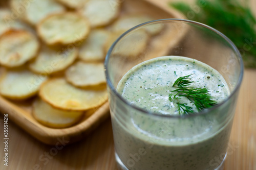
[[[80,89],[63,78],[55,78],[43,83],[39,95],[53,107],[76,111],[92,109],[108,99],[106,88],[103,90]]]

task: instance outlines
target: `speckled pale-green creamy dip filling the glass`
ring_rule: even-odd
[[[190,87],[207,88],[218,103],[230,93],[217,70],[178,56],[158,57],[136,65],[123,76],[117,90],[132,105],[159,115],[177,115],[177,104],[169,101],[169,94],[177,78],[187,75],[194,81]],[[186,98],[179,102],[197,112]],[[220,112],[170,118],[124,106],[122,109],[126,111],[120,110],[112,117],[115,150],[129,169],[210,170],[216,168],[212,160],[226,153],[231,121],[220,125],[215,119]]]

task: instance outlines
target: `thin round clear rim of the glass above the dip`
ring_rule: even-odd
[[[116,90],[116,88],[114,87],[113,83],[111,82],[110,80],[110,76],[109,76],[109,69],[108,69],[108,63],[109,63],[109,59],[110,59],[110,56],[112,54],[112,51],[114,49],[114,47],[116,46],[116,44],[120,41],[120,39],[122,39],[125,35],[129,34],[130,32],[136,30],[137,28],[140,28],[142,26],[145,26],[145,25],[150,25],[151,23],[154,23],[154,22],[165,22],[165,21],[181,21],[181,22],[185,22],[185,23],[193,23],[194,25],[197,25],[197,26],[201,26],[201,27],[204,27],[204,28],[207,28],[208,30],[211,30],[215,33],[217,33],[219,36],[221,36],[224,40],[226,40],[226,42],[228,42],[229,45],[231,45],[232,47],[232,50],[237,54],[238,56],[238,60],[240,62],[240,75],[239,75],[239,79],[238,79],[238,82],[236,84],[236,86],[234,87],[234,89],[232,90],[232,92],[228,95],[228,97],[222,101],[221,103],[215,105],[215,106],[212,106],[210,108],[207,108],[207,109],[204,109],[204,110],[201,110],[199,112],[196,112],[194,114],[186,114],[186,115],[171,115],[171,114],[168,114],[168,115],[165,115],[165,114],[158,114],[158,113],[155,113],[155,112],[151,112],[149,110],[145,110],[145,109],[142,109],[136,105],[132,105],[130,102],[126,101],[122,96],[121,94],[119,94]],[[224,34],[222,34],[220,31],[212,28],[212,27],[209,27],[207,25],[205,25],[204,23],[200,23],[200,22],[197,22],[197,21],[192,21],[192,20],[188,20],[188,19],[176,19],[176,18],[169,18],[169,19],[157,19],[157,20],[152,20],[152,21],[147,21],[147,22],[144,22],[144,23],[141,23],[140,25],[137,25],[129,30],[127,30],[126,32],[124,32],[122,35],[120,35],[116,40],[115,42],[111,45],[108,53],[106,54],[106,57],[105,57],[105,61],[104,61],[104,72],[105,72],[105,77],[106,77],[106,83],[107,85],[109,86],[110,90],[112,92],[114,92],[114,94],[117,96],[117,98],[119,100],[121,100],[125,105],[129,106],[129,107],[132,107],[134,110],[137,110],[141,113],[144,113],[144,114],[147,114],[147,115],[151,115],[151,116],[157,116],[157,117],[169,117],[169,118],[186,118],[186,117],[193,117],[193,116],[199,116],[199,115],[203,115],[203,114],[207,114],[213,110],[216,110],[218,108],[220,108],[222,105],[224,105],[226,102],[228,102],[232,96],[239,90],[240,86],[241,86],[241,83],[242,83],[242,79],[243,79],[243,74],[244,74],[244,65],[243,65],[243,60],[242,60],[242,56],[237,48],[236,45],[234,45],[234,43],[227,37],[225,36]]]

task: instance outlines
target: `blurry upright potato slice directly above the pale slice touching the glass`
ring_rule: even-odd
[[[105,59],[104,44],[110,33],[103,29],[93,30],[80,47],[79,58],[83,61],[103,61]]]

